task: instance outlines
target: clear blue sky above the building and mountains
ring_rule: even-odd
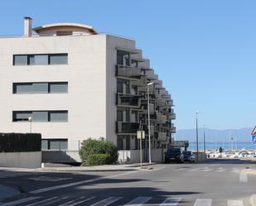
[[[256,124],[255,0],[2,1],[0,36],[33,26],[78,22],[128,36],[171,92],[177,129]],[[0,48],[1,50],[1,48]]]

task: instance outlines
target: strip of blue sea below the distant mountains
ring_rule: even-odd
[[[190,141],[188,150],[196,151],[196,142]],[[256,144],[253,144],[252,142],[205,142],[205,149],[206,150],[219,150],[220,146],[225,149],[225,151],[228,150],[256,150]],[[199,150],[204,149],[204,142],[198,142],[198,148]]]

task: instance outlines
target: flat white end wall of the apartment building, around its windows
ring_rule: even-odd
[[[78,140],[106,135],[106,36],[0,38],[0,131],[29,132],[13,110],[68,110],[68,122],[32,122],[42,138]],[[13,66],[12,55],[68,53],[68,65]],[[12,94],[13,82],[68,81],[68,93]]]

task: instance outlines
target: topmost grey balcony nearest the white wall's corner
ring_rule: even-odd
[[[127,65],[117,65],[117,76],[137,78],[139,79],[142,75],[142,69],[138,67],[132,67]]]

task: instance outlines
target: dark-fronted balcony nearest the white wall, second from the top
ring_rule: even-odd
[[[117,105],[123,107],[140,108],[141,99],[139,95],[128,93],[117,93]]]

